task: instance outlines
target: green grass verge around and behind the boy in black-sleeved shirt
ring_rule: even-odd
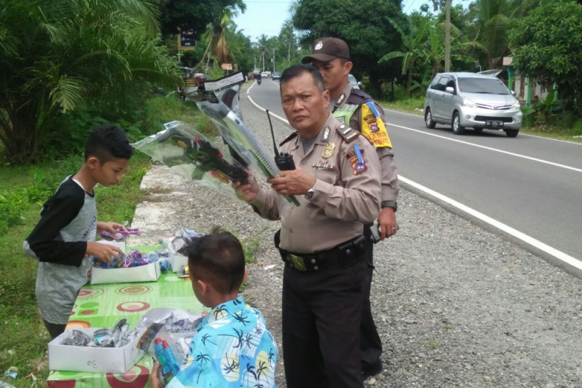
[[[140,123],[120,123],[128,130],[139,126],[143,132],[136,131],[136,136],[155,133],[163,128],[162,123],[172,120],[196,125],[209,137],[218,134],[193,102],[155,96],[145,107],[150,113]],[[19,377],[12,382],[17,388],[31,386],[24,376],[33,371],[42,386],[49,372],[45,357],[49,336],[34,294],[37,262],[24,255],[22,243],[40,219],[44,201],[82,164],[82,156],[70,155],[42,165],[0,165],[0,373],[9,366],[19,368]],[[150,165],[148,156],[136,152],[117,186],[95,188],[99,220],[132,222],[135,208],[143,200],[141,179]]]

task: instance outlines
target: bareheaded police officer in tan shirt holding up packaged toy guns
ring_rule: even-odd
[[[313,66],[281,75],[285,115],[297,130],[282,143],[295,170],[267,182],[296,195],[281,205],[255,181],[239,196],[267,219],[281,219],[275,244],[283,275],[283,353],[289,388],[363,387],[360,321],[367,282],[364,224],[380,211],[379,160],[371,143],[329,112],[329,92]]]

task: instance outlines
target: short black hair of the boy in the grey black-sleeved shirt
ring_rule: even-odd
[[[125,131],[116,125],[93,127],[85,144],[85,161],[96,156],[101,165],[115,159],[130,159],[133,148],[129,145]]]

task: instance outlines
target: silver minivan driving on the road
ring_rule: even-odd
[[[503,130],[516,137],[523,113],[519,101],[495,76],[478,73],[439,73],[427,90],[424,122],[427,128],[450,124],[460,135],[466,128]]]

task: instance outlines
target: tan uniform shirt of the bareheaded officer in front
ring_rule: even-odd
[[[349,142],[336,130],[342,126],[347,136],[353,135]],[[363,166],[358,165],[358,147]],[[296,253],[328,250],[359,236],[363,225],[378,217],[380,163],[374,146],[331,113],[305,154],[300,136],[283,144],[281,152],[289,152],[296,166],[317,179],[311,200],[296,195],[299,207],[279,209],[276,193],[262,188],[251,202],[262,217],[281,219],[282,249]]]

